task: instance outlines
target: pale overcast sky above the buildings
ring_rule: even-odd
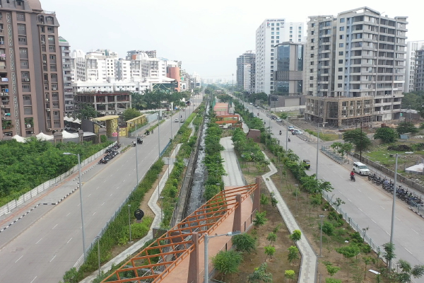
[[[269,1],[269,0],[40,0],[56,11],[59,35],[71,49],[157,50],[158,57],[182,61],[182,69],[204,79],[231,79],[236,58],[255,49],[255,32],[265,18],[307,22],[308,16],[334,15],[362,6],[408,16],[408,40],[419,32],[419,1]],[[415,3],[415,4],[414,4]]]

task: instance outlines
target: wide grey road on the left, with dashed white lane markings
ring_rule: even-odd
[[[200,100],[201,96],[195,98],[196,107]],[[161,150],[171,137],[171,123],[172,134],[179,128],[174,118],[188,117],[192,109],[193,106],[160,125]],[[138,149],[141,179],[158,158],[158,129],[146,137]],[[93,241],[136,184],[135,153],[131,148],[83,175],[86,245]],[[75,185],[76,180],[64,183],[64,186]],[[83,254],[79,192],[56,206],[39,206],[20,221],[6,229],[7,233],[0,234],[0,282],[59,282]]]

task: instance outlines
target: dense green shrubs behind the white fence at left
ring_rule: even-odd
[[[83,161],[110,144],[111,141],[54,145],[35,138],[27,139],[25,143],[0,141],[0,206],[76,166],[76,156],[64,155],[64,152],[80,154]]]

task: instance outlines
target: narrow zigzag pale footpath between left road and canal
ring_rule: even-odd
[[[177,144],[174,151],[172,151],[170,158],[175,159],[181,145],[182,144]],[[171,163],[169,165],[169,170],[172,171],[173,168],[174,168],[174,163]],[[157,202],[159,200],[160,193],[162,192],[163,188],[165,187],[165,183],[167,182],[167,178],[168,178],[168,175],[163,174],[162,178],[160,178],[159,185],[157,187],[155,187],[155,190],[154,190],[154,192],[151,196],[151,199],[148,201],[148,207],[150,207],[152,209],[152,212],[155,214],[155,218],[153,219],[153,222],[151,224],[151,229],[150,229],[150,231],[148,231],[147,236],[145,236],[144,238],[141,238],[139,241],[134,243],[131,247],[127,248],[126,250],[124,250],[122,253],[120,253],[116,257],[112,258],[112,260],[105,263],[105,265],[102,265],[102,267],[100,267],[100,272],[102,272],[102,273],[109,272],[109,270],[112,268],[112,265],[119,265],[119,263],[128,259],[134,253],[137,253],[144,246],[144,244],[147,241],[153,239],[153,228],[159,228],[160,227],[160,222],[161,222],[161,218],[162,218],[161,209],[160,209],[159,205],[157,204]],[[159,190],[159,192],[158,192],[158,190]],[[92,275],[84,278],[80,283],[92,282],[98,276],[98,273],[99,273],[98,270],[96,270],[95,272],[93,272]]]

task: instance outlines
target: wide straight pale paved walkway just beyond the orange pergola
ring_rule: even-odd
[[[232,144],[231,137],[224,137],[220,139],[220,144],[225,148],[224,151],[221,151],[221,157],[224,159],[223,166],[227,173],[227,175],[223,175],[224,185],[240,187],[247,185],[237,161],[237,156],[235,156],[234,145]]]

